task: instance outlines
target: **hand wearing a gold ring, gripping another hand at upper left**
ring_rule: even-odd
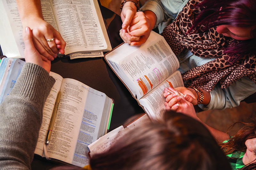
[[[23,26],[30,27],[32,30],[33,43],[35,48],[41,54],[42,59],[52,61],[57,54],[64,54],[66,42],[60,33],[42,18],[26,18],[23,20]],[[24,32],[23,32],[24,35]],[[54,38],[53,41],[47,41]]]

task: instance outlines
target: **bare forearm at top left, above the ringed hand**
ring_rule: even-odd
[[[16,0],[21,22],[31,18],[44,19],[40,0]]]

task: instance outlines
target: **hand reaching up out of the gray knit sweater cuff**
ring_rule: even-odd
[[[25,28],[25,32],[23,34],[23,41],[25,43],[25,60],[28,63],[34,63],[41,67],[43,67],[46,71],[50,72],[51,70],[51,61],[42,60],[42,55],[39,54],[37,49],[35,48],[32,40],[32,31],[29,27]]]

